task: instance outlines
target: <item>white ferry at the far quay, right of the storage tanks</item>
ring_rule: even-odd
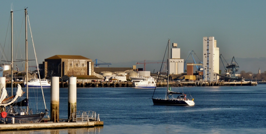
[[[145,77],[131,77],[131,81],[133,82],[133,87],[138,88],[155,88],[156,87],[156,81],[152,76],[149,78]]]

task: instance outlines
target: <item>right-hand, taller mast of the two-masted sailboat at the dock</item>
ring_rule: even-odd
[[[29,98],[29,89],[28,89],[28,41],[27,41],[27,8],[25,8],[25,45],[26,45],[26,61],[25,61],[25,65],[26,65],[26,89],[27,89],[27,96],[26,99],[28,100]],[[27,114],[28,114],[28,110],[29,110],[29,106],[27,106]]]

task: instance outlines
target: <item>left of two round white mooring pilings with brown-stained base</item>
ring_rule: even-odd
[[[59,77],[51,77],[51,122],[59,122]]]

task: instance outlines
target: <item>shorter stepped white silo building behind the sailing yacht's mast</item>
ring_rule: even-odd
[[[180,48],[176,43],[172,43],[171,59],[169,59],[169,74],[184,73],[184,59],[180,58]]]

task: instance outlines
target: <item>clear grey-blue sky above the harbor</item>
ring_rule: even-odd
[[[203,61],[203,37],[213,36],[226,62],[235,58],[239,73],[266,71],[263,0],[1,1],[1,50],[10,42],[7,31],[11,4],[14,52],[25,51],[22,21],[28,7],[38,63],[53,55],[81,55],[111,63],[109,67],[132,67],[144,60],[161,62],[168,38],[181,48],[182,59],[186,60],[193,50]],[[14,55],[17,59],[24,57]],[[192,57],[187,62],[192,62]],[[158,71],[160,66],[146,64],[146,71]],[[143,64],[137,68],[144,68]],[[223,68],[220,62],[220,70]]]

